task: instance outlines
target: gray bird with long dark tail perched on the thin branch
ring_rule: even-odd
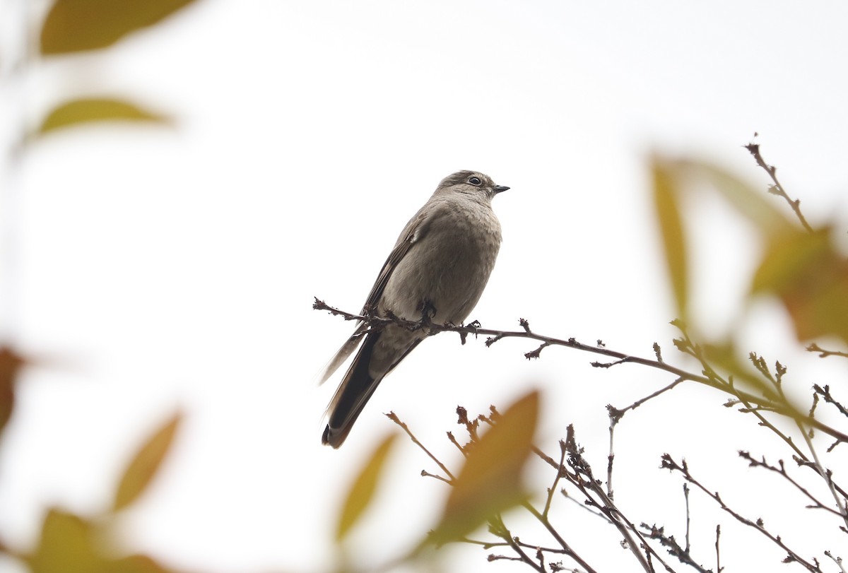
[[[362,314],[393,313],[406,320],[462,324],[494,268],[500,223],[492,211],[492,197],[507,189],[477,171],[445,177],[400,233]],[[321,376],[323,383],[361,342],[327,407],[322,443],[333,448],[343,444],[382,379],[427,335],[426,327],[410,331],[387,325],[369,330],[358,325]]]

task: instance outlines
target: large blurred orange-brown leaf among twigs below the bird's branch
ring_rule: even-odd
[[[538,392],[533,391],[512,404],[483,434],[453,482],[430,542],[456,541],[525,498],[522,470],[532,451],[537,419]]]

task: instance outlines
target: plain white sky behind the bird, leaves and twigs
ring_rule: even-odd
[[[527,341],[428,340],[344,447],[321,448],[339,375],[321,388],[315,376],[353,325],[311,310],[312,297],[359,310],[438,181],[482,170],[511,189],[495,200],[504,244],[471,319],[511,329],[524,317],[551,336],[649,357],[661,342],[667,360],[685,364],[672,350],[644,159],[698,153],[765,190],[741,147],[758,131],[808,219],[848,226],[846,23],[837,2],[206,0],[109,50],[41,64],[24,88],[31,122],[70,93],[107,93],[173,114],[176,129],[69,130],[31,147],[7,179],[20,216],[12,328],[26,351],[59,364],[28,370],[20,385],[0,457],[0,537],[26,546],[51,504],[107,507],[126,456],[176,408],[187,414],[176,448],[126,527],[135,548],[192,570],[332,563],[334,512],[392,429],[389,410],[455,461],[444,431],[457,427],[458,403],[505,408],[538,386],[539,442],[554,451],[573,422],[600,471],[605,404],[625,406],[671,379],[594,370],[592,356],[561,348],[528,363]],[[718,333],[756,246],[722,203],[699,207],[708,258],[695,271],[698,311]],[[753,313],[750,348],[790,375],[833,376],[833,364],[793,350],[769,304]],[[760,442],[765,432],[723,401],[683,387],[623,420],[616,501],[628,517],[682,537],[680,481],[656,469],[669,452],[803,554],[839,549],[797,521],[780,529],[780,519],[809,515],[775,511],[788,490],[747,470],[736,450],[789,453]],[[380,509],[355,537],[365,563],[408,547],[445,493],[418,476],[433,468],[410,443],[394,462]],[[692,503],[696,556],[713,567],[718,518],[709,500]],[[610,528],[560,509],[597,527],[577,547],[590,563],[633,570],[629,552],[611,550]],[[448,570],[522,570],[486,565],[486,554],[460,548]],[[777,570],[781,557],[752,531],[722,537],[728,570],[752,558]]]

